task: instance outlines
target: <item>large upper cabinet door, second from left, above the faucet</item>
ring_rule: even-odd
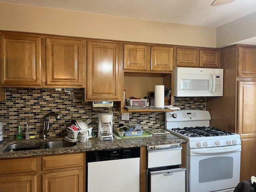
[[[46,85],[83,86],[83,41],[46,38]]]

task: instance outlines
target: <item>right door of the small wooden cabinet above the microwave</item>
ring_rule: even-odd
[[[200,49],[200,67],[219,68],[220,50],[218,49]]]

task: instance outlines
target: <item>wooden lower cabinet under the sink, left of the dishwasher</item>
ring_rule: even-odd
[[[84,192],[85,153],[0,160],[0,192]]]

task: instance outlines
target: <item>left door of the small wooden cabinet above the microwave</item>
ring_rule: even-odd
[[[177,67],[198,67],[199,51],[196,48],[177,47]]]

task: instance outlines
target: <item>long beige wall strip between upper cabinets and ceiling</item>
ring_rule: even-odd
[[[216,28],[8,3],[0,3],[0,30],[216,47]]]

